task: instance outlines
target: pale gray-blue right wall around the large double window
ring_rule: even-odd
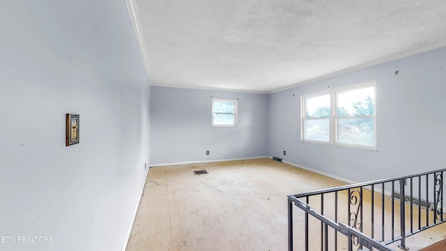
[[[300,96],[372,80],[377,85],[378,151],[300,141]],[[445,83],[443,47],[274,93],[269,96],[269,155],[353,181],[445,168]]]

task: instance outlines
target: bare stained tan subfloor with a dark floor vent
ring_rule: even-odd
[[[194,175],[202,169],[208,174]],[[152,167],[127,251],[287,250],[286,196],[339,185],[270,159]],[[421,241],[411,236],[407,246],[440,241],[442,227],[417,234]]]

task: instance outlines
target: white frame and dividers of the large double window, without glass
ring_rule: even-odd
[[[355,91],[359,89],[365,89],[368,87],[374,87],[374,114],[373,115],[365,115],[365,116],[338,116],[338,94],[339,93],[346,93],[348,91]],[[376,138],[376,81],[371,82],[365,82],[361,84],[353,84],[350,86],[345,86],[337,89],[331,89],[328,91],[320,91],[317,93],[309,93],[306,95],[301,96],[301,135],[300,139],[302,142],[307,143],[314,143],[314,144],[325,144],[325,145],[332,145],[332,146],[342,146],[352,149],[365,149],[365,150],[371,150],[376,151],[377,149],[377,138]],[[306,122],[307,118],[307,99],[309,98],[316,98],[319,96],[330,96],[330,117],[329,119],[329,141],[320,141],[320,140],[314,140],[314,139],[306,139],[305,138],[305,132],[307,130],[306,128]],[[374,146],[368,146],[368,145],[362,145],[362,144],[347,144],[343,142],[339,142],[339,128],[338,128],[338,121],[339,119],[346,119],[346,118],[373,118],[374,122]],[[327,118],[312,118],[312,119],[327,119]]]

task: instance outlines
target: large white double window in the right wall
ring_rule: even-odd
[[[302,96],[302,140],[376,149],[376,82]]]

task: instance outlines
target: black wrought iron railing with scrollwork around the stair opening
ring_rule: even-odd
[[[446,221],[445,172],[289,195],[289,251],[392,250],[397,241],[407,250],[408,236]]]

